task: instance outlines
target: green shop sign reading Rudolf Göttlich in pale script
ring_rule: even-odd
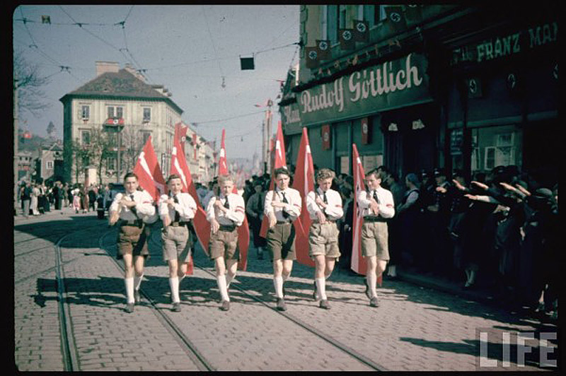
[[[430,100],[427,59],[419,54],[386,61],[299,95],[303,126]]]

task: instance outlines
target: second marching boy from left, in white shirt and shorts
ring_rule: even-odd
[[[163,259],[169,265],[169,287],[173,312],[180,312],[179,285],[185,278],[190,260],[190,231],[187,225],[195,218],[197,203],[188,193],[181,192],[183,182],[178,175],[167,180],[169,194],[159,199],[159,216],[163,221],[161,240]]]

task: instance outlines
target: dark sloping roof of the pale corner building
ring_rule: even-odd
[[[100,76],[88,81],[88,83],[71,91],[71,93],[67,93],[59,100],[64,102],[67,99],[76,97],[163,100],[169,102],[178,112],[183,113],[183,110],[173,100],[159,93],[154,87],[161,86],[149,85],[126,69],[120,69],[117,73],[106,72],[100,74]]]

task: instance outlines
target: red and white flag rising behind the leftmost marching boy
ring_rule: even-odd
[[[165,179],[151,144],[151,136],[147,138],[144,149],[139,153],[134,174],[137,175],[139,186],[149,192],[156,202],[161,194],[167,193]]]

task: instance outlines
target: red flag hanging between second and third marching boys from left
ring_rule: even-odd
[[[188,193],[192,196],[192,199],[197,203],[197,213],[195,213],[195,218],[192,224],[195,228],[195,233],[197,233],[197,238],[200,242],[204,253],[208,254],[208,242],[210,239],[210,223],[207,221],[207,214],[199,203],[199,197],[197,195],[197,189],[195,184],[192,182],[192,177],[190,175],[190,170],[187,167],[187,160],[185,160],[185,153],[180,146],[178,139],[173,141],[173,151],[171,155],[171,174],[177,174],[181,177],[181,182],[183,183],[183,189],[181,192]],[[187,274],[192,274],[192,257],[189,260],[189,266],[187,268]]]

